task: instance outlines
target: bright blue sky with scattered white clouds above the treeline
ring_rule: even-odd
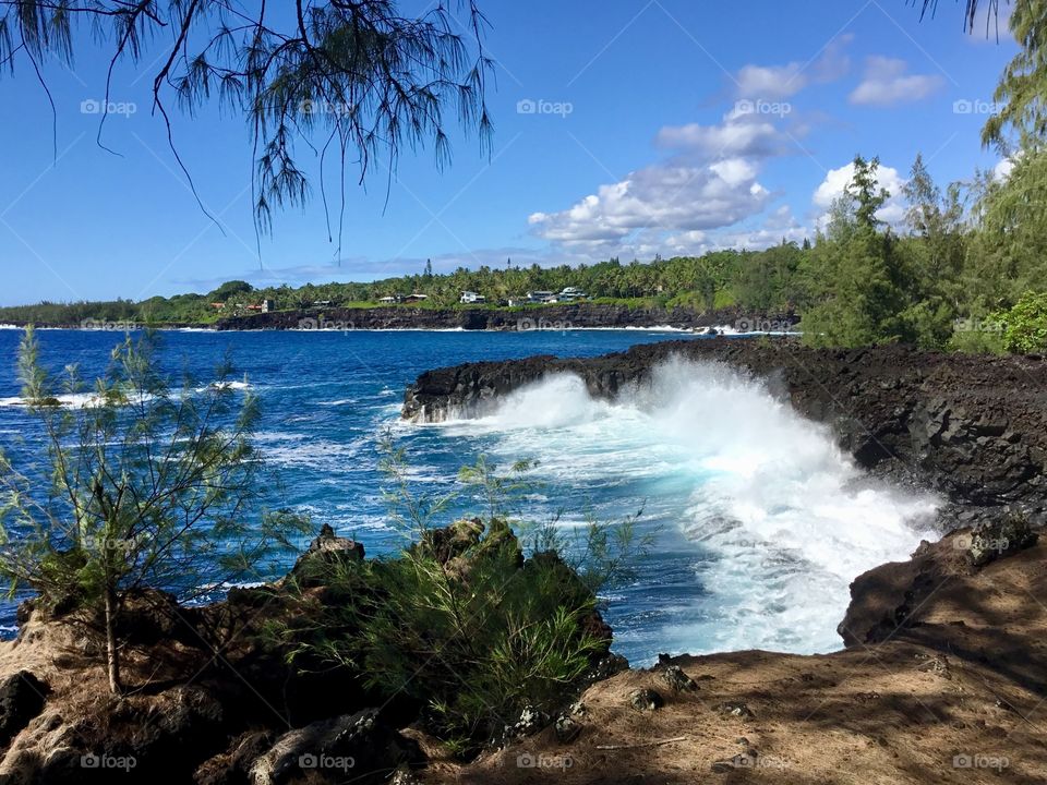
[[[421,150],[388,193],[381,168],[350,184],[340,263],[318,200],[256,245],[248,129],[217,110],[173,114],[221,228],[203,215],[149,114],[159,48],[115,72],[124,111],[105,142],[120,157],[95,144],[107,60],[89,40],[74,69],[45,63],[57,162],[47,98],[20,61],[0,78],[0,304],[362,280],[426,258],[449,270],[758,247],[811,234],[856,153],[878,155],[895,192],[917,152],[941,184],[998,164],[978,132],[1015,46],[962,34],[949,2],[923,23],[903,0],[481,5],[492,154],[456,133],[443,172]]]

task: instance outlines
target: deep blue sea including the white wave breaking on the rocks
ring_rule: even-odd
[[[93,378],[121,336],[40,330],[41,359]],[[0,449],[33,455],[38,437],[19,406],[21,331],[0,329]],[[421,492],[460,488],[458,469],[482,454],[500,466],[538,462],[524,512],[570,530],[587,516],[617,521],[643,509],[654,535],[634,579],[609,587],[615,649],[636,664],[659,652],[839,649],[847,585],[905,558],[931,536],[936,500],[864,478],[820,426],[753,381],[717,365],[670,363],[650,388],[613,403],[576,378],[549,377],[489,416],[438,425],[400,421],[405,386],[421,372],[531,354],[588,357],[682,338],[647,330],[531,333],[166,331],[164,362],[206,379],[231,351],[260,396],[256,446],[279,478],[273,506],[362,541],[398,547],[381,492],[378,444],[406,448]],[[690,340],[702,340],[688,337]],[[71,401],[71,404],[75,404]],[[461,497],[450,512],[479,503]],[[453,519],[448,516],[448,520]],[[303,543],[304,544],[304,543]],[[290,558],[288,566],[290,564]],[[14,630],[14,602],[0,625]]]

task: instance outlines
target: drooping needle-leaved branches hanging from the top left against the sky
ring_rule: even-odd
[[[251,10],[227,0],[0,0],[0,68],[26,65],[50,97],[48,57],[72,67],[85,38],[103,49],[110,59],[98,126],[104,146],[113,69],[145,63],[153,69],[153,110],[191,185],[171,106],[192,114],[216,100],[243,116],[255,221],[269,231],[275,209],[302,206],[312,193],[299,141],[320,153],[325,207],[324,166],[328,153],[337,156],[342,209],[349,164],[362,180],[377,162],[392,172],[405,147],[429,144],[443,166],[452,122],[486,144],[485,25],[473,0],[440,0],[420,16],[401,14],[393,0],[293,0],[279,8],[263,1]]]

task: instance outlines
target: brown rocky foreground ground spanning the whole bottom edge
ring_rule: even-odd
[[[354,551],[326,535],[314,555]],[[464,521],[435,539],[450,565],[476,536]],[[985,561],[989,542],[996,556]],[[97,652],[76,627],[33,612],[20,640],[0,644],[0,708],[13,733],[0,783],[1047,780],[1038,714],[1047,699],[1047,607],[1038,600],[1047,596],[1047,545],[1035,532],[1011,518],[963,530],[859,576],[851,591],[845,651],[662,656],[648,671],[612,671],[562,713],[525,712],[527,726],[507,734],[504,749],[471,763],[452,759],[409,717],[368,705],[351,685],[299,680],[279,659],[238,645],[262,594],[182,608],[183,618],[152,631],[140,617],[167,599],[142,597],[131,619],[148,635],[132,636],[140,651],[129,673],[154,680],[120,700],[107,695]],[[279,596],[269,595],[269,607]],[[189,637],[208,628],[226,629],[217,655]],[[168,637],[146,643],[156,629]],[[186,667],[195,676],[186,679]],[[286,700],[292,693],[297,703]]]

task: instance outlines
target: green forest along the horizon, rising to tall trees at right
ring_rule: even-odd
[[[598,302],[734,307],[762,316],[795,312],[804,340],[819,346],[903,342],[928,349],[1047,350],[1047,25],[1044,3],[1019,3],[1010,19],[1021,50],[1004,70],[983,143],[1008,161],[967,182],[936,184],[917,156],[904,186],[906,215],[880,220],[892,196],[877,181],[876,158],[855,159],[854,179],[816,237],[803,246],[715,251],[700,257],[617,258],[577,267],[459,268],[371,282],[253,289],[230,281],[205,294],[141,303],[41,303],[0,309],[0,322],[206,324],[276,310],[362,307],[422,293],[411,307],[459,307],[462,291],[496,307],[528,291],[577,287]],[[216,304],[220,303],[221,307]]]

